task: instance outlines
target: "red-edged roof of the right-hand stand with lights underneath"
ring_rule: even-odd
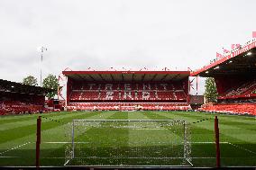
[[[191,72],[190,76],[252,76],[256,74],[256,41],[233,50],[224,58]]]

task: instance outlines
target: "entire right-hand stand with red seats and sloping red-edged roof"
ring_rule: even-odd
[[[190,76],[215,78],[217,102],[199,111],[256,115],[256,40],[234,49],[224,58],[192,72]]]

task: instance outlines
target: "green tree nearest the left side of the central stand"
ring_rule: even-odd
[[[48,75],[46,78],[43,79],[42,81],[42,86],[45,88],[50,88],[53,89],[53,92],[50,92],[46,94],[48,98],[53,98],[55,94],[57,94],[58,87],[59,87],[59,82],[58,78],[54,75]]]

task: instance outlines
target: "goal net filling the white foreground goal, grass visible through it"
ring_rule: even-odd
[[[193,166],[186,121],[73,120],[64,166]]]

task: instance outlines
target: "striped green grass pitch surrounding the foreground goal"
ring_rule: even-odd
[[[214,118],[218,115],[221,165],[256,166],[256,119],[238,115],[204,112],[52,112],[40,114],[41,166],[63,166],[67,147],[67,123],[72,120],[184,120],[191,124],[193,166],[215,166]],[[39,114],[0,117],[0,166],[34,166],[36,119]],[[207,119],[207,120],[206,120]],[[52,121],[54,120],[54,121]],[[201,121],[206,120],[206,121]],[[197,123],[193,123],[199,121]],[[111,131],[111,130],[109,130]],[[102,131],[87,130],[95,140],[103,140]],[[102,133],[102,135],[101,135]],[[146,132],[142,132],[146,133]],[[140,134],[120,131],[120,140],[131,143]],[[164,138],[161,132],[152,139]],[[151,141],[142,142],[147,147]],[[100,152],[94,150],[94,152]],[[100,154],[100,153],[99,153]],[[157,154],[157,153],[156,153]],[[156,163],[157,164],[157,163]]]

